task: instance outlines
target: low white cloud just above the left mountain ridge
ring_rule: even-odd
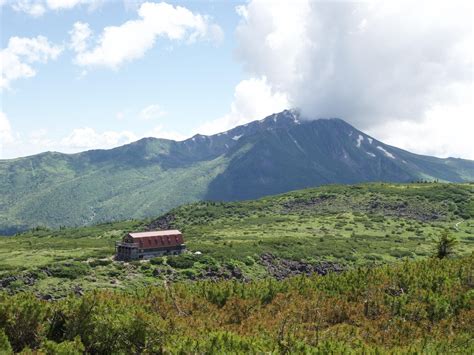
[[[59,147],[66,150],[85,150],[113,148],[137,140],[130,131],[96,132],[90,127],[76,128],[68,136],[61,139]]]

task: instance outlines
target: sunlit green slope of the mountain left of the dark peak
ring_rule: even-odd
[[[134,147],[137,154],[156,149],[159,155],[169,144],[157,140]],[[216,159],[167,169],[149,161],[146,152],[142,162],[126,159],[126,153],[110,151],[107,159],[100,151],[44,153],[0,161],[0,233],[156,216],[201,199],[225,165]]]

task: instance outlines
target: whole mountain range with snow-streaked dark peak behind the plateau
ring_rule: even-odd
[[[283,111],[212,136],[0,161],[0,234],[158,215],[328,183],[474,180],[474,162],[413,154],[341,119]]]

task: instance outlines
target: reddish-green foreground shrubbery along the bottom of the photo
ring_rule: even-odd
[[[472,353],[474,256],[56,302],[0,296],[0,353]]]

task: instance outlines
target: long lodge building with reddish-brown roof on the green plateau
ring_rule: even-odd
[[[115,243],[116,260],[150,259],[163,255],[179,255],[186,250],[179,230],[128,233]]]

